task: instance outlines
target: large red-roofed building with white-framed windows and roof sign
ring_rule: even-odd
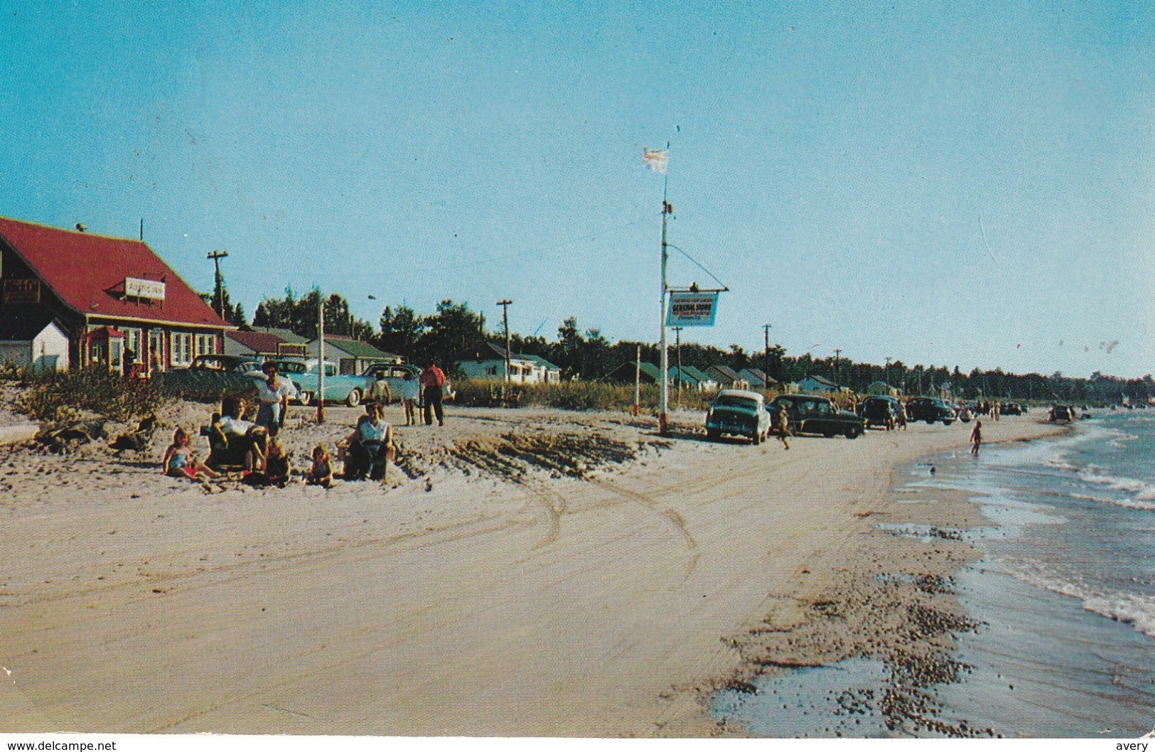
[[[45,315],[73,364],[118,372],[188,365],[234,328],[140,240],[0,217],[0,328]]]

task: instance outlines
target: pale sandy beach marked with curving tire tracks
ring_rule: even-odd
[[[295,467],[358,411],[327,412],[292,410]],[[863,650],[948,670],[967,626],[933,583],[968,546],[878,523],[976,523],[892,491],[969,425],[783,451],[707,442],[694,414],[661,438],[623,414],[450,408],[396,427],[385,486],[162,476],[171,426],[206,415],[163,416],[151,453],[0,447],[0,730],[742,735],[711,691]],[[1055,432],[1043,417],[984,420],[985,440]]]

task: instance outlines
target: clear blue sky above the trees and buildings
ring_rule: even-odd
[[[1153,370],[1155,13],[1132,2],[0,0],[0,215],[286,286],[657,340]],[[671,284],[713,281],[675,252]],[[371,300],[368,296],[375,297]]]

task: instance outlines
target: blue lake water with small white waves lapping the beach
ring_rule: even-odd
[[[964,534],[982,558],[954,582],[984,626],[959,635],[956,657],[973,670],[936,687],[939,717],[1011,738],[1150,732],[1155,410],[1106,411],[1058,439],[933,463],[933,476],[925,464],[907,469],[907,496],[973,492],[991,521]],[[893,736],[877,713],[835,713],[840,693],[878,693],[885,679],[879,662],[852,658],[760,678],[759,694],[720,692],[713,712],[755,736]]]

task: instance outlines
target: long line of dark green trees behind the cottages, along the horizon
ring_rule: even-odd
[[[224,297],[228,304],[228,296]],[[240,306],[231,306],[226,319],[244,325]],[[239,317],[239,321],[238,321]],[[264,298],[256,306],[252,326],[286,328],[313,338],[318,332],[318,292],[297,296],[285,290],[283,298]],[[333,293],[325,299],[325,330],[327,334],[349,336],[402,356],[408,362],[422,363],[433,358],[452,367],[456,356],[486,343],[505,347],[504,332],[486,330],[485,315],[471,311],[467,303],[442,300],[437,312],[420,314],[405,305],[386,306],[374,327],[353,317],[349,303]],[[564,379],[602,380],[625,363],[633,363],[639,349],[643,362],[657,364],[660,348],[649,342],[610,342],[596,328],[582,329],[571,317],[558,327],[557,336],[524,336],[511,332],[509,349],[514,355],[535,355],[561,368]],[[902,360],[888,365],[855,363],[849,358],[815,358],[808,352],[788,356],[782,345],[767,350],[746,351],[742,345],[729,349],[684,342],[670,343],[670,365],[694,366],[701,370],[725,365],[735,371],[746,367],[768,373],[776,381],[798,381],[810,375],[824,377],[865,393],[871,384],[882,381],[907,394],[944,395],[974,400],[1060,400],[1068,402],[1119,402],[1124,395],[1133,402],[1155,397],[1155,382],[1142,379],[1116,379],[1096,373],[1090,379],[1066,377],[1060,372],[1016,374],[1001,368],[973,368],[962,372],[959,366],[917,364],[908,366]]]

